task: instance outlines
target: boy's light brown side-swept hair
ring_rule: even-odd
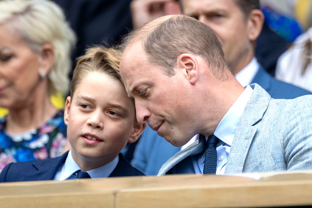
[[[119,80],[119,63],[121,52],[114,48],[95,46],[86,50],[85,55],[77,58],[77,64],[71,79],[71,97],[73,97],[77,85],[91,72],[101,72]]]

